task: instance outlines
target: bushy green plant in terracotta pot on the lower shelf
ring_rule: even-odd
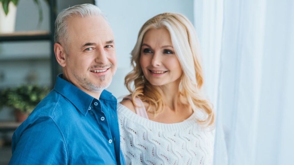
[[[6,88],[1,91],[0,107],[11,107],[14,110],[16,121],[23,122],[48,93],[48,87],[39,85],[27,84]]]

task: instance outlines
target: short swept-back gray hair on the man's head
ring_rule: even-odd
[[[55,21],[55,34],[54,34],[54,42],[61,43],[61,42],[68,42],[69,41],[69,34],[67,32],[67,24],[68,19],[72,16],[81,16],[81,17],[88,17],[88,16],[103,16],[103,18],[107,21],[106,15],[95,5],[93,4],[81,4],[69,7],[67,9],[62,10]],[[66,53],[67,51],[67,43],[64,43]]]

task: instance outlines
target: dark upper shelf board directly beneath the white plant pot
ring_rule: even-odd
[[[51,40],[51,34],[48,31],[28,31],[28,32],[0,34],[0,42],[36,41],[36,40]]]

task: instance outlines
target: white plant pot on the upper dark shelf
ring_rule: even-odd
[[[9,2],[8,14],[4,13],[2,2],[0,2],[0,33],[13,33],[15,30],[16,6]]]

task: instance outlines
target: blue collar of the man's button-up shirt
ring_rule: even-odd
[[[94,97],[80,90],[78,87],[62,78],[62,73],[57,76],[54,90],[68,99],[84,116],[94,100]],[[115,101],[116,98],[108,91],[103,90],[100,99]],[[99,99],[99,100],[100,100]]]

